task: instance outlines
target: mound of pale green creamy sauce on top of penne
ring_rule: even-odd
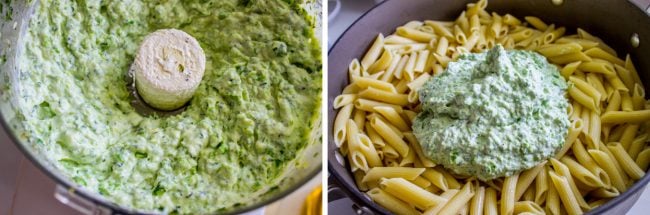
[[[413,132],[434,162],[481,180],[552,157],[568,132],[567,85],[533,52],[500,45],[449,63],[418,91]]]

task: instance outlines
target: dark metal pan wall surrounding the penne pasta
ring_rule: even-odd
[[[364,211],[389,214],[387,210],[372,202],[360,192],[354,178],[345,165],[346,159],[340,156],[333,142],[332,125],[336,112],[332,108],[334,98],[341,94],[349,84],[348,63],[362,56],[378,33],[392,34],[395,28],[411,20],[455,20],[465,10],[465,5],[475,1],[468,0],[390,0],[368,11],[355,21],[338,38],[328,54],[328,169],[337,186],[359,204]],[[554,5],[551,0],[489,0],[488,11],[499,14],[510,13],[520,19],[524,16],[537,16],[546,23],[565,26],[568,33],[577,27],[601,37],[616,49],[619,55],[629,53],[639,75],[650,86],[650,17],[646,8],[639,8],[627,0],[564,0]],[[639,35],[640,45],[633,47],[630,37]],[[336,38],[330,38],[336,39]],[[647,98],[646,98],[647,99]],[[625,214],[637,201],[650,174],[606,204],[592,210],[589,214]]]

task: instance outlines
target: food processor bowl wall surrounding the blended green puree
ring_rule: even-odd
[[[6,5],[5,2],[10,3]],[[315,36],[322,41],[321,0],[306,2],[302,6],[314,18]],[[39,155],[37,150],[33,150],[31,143],[21,138],[21,134],[18,133],[20,131],[18,128],[20,123],[15,119],[15,106],[13,105],[15,101],[10,96],[12,94],[10,92],[15,91],[16,86],[13,86],[11,83],[16,83],[14,80],[17,78],[17,74],[19,74],[15,57],[19,56],[23,51],[20,46],[20,41],[29,25],[29,19],[34,9],[39,5],[38,3],[39,1],[37,0],[14,0],[0,3],[2,4],[2,7],[0,7],[2,8],[0,9],[0,129],[4,127],[11,141],[23,152],[25,157],[59,184],[56,191],[52,190],[51,192],[55,193],[55,197],[62,200],[63,203],[85,214],[152,213],[150,211],[138,211],[132,208],[122,207],[74,183],[68,177],[62,175],[44,156]],[[9,12],[11,14],[10,19],[8,19],[9,16],[5,16],[8,10],[12,10],[12,12]],[[6,62],[3,62],[3,59],[6,59]],[[16,95],[15,93],[13,94]],[[289,165],[288,173],[285,174],[286,177],[278,184],[277,189],[262,194],[261,196],[251,196],[248,203],[227,211],[220,211],[219,213],[239,214],[263,207],[291,194],[318,175],[322,163],[321,121],[318,120],[318,123],[314,126],[310,143],[307,148],[298,154],[294,163]]]

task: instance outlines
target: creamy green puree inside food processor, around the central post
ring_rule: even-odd
[[[277,186],[320,107],[311,20],[288,0],[41,0],[18,56],[26,139],[64,175],[143,210],[209,213]],[[147,34],[176,28],[205,50],[187,109],[141,116],[125,75]]]

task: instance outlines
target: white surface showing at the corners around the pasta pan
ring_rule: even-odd
[[[634,0],[638,4],[647,4],[650,0]],[[328,47],[343,34],[343,32],[363,13],[375,4],[374,0],[343,0],[341,2],[341,11],[338,16],[329,22]],[[352,212],[350,204],[345,202],[336,202],[328,205],[330,214],[348,214]],[[634,206],[627,213],[628,215],[650,214],[650,187],[646,186],[645,191]]]

